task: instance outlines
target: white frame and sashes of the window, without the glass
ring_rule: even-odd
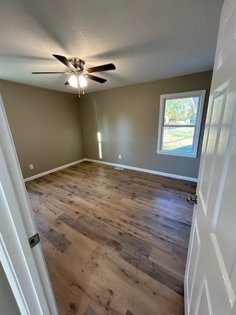
[[[160,112],[159,112],[159,127],[158,127],[158,137],[157,137],[157,154],[167,154],[172,156],[180,156],[180,157],[189,157],[189,158],[197,158],[198,144],[199,144],[199,136],[201,130],[201,123],[203,117],[203,109],[205,103],[207,90],[199,90],[199,91],[189,91],[189,92],[181,92],[181,93],[172,93],[172,94],[163,94],[160,97]],[[176,98],[187,98],[187,97],[199,97],[198,110],[196,115],[196,123],[195,130],[193,136],[193,146],[192,152],[181,152],[181,151],[171,151],[171,150],[163,150],[163,130],[164,130],[164,120],[165,120],[165,104],[167,99],[176,99]],[[183,127],[183,125],[171,125],[177,127]],[[184,127],[189,127],[192,125],[184,125]]]

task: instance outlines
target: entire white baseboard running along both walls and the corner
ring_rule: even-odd
[[[69,167],[69,166],[74,165],[74,164],[81,163],[83,161],[89,161],[89,162],[94,162],[94,163],[106,164],[106,165],[111,165],[111,166],[115,166],[115,167],[118,166],[118,167],[122,167],[122,168],[132,169],[134,171],[140,171],[140,172],[156,174],[156,175],[161,175],[161,176],[166,176],[166,177],[183,179],[185,181],[190,181],[190,182],[197,182],[198,181],[198,179],[194,178],[194,177],[187,177],[187,176],[181,176],[181,175],[176,175],[176,174],[163,173],[163,172],[153,171],[151,169],[134,167],[134,166],[128,166],[128,165],[122,165],[122,164],[116,164],[116,163],[110,163],[110,162],[105,162],[105,161],[99,161],[99,160],[91,159],[91,158],[82,158],[82,159],[80,159],[78,161],[75,161],[75,162],[72,162],[72,163],[69,163],[69,164],[66,164],[66,165],[62,165],[62,166],[56,167],[54,169],[50,169],[49,171],[46,171],[46,172],[43,172],[43,173],[40,173],[40,174],[36,174],[36,175],[30,176],[28,178],[25,178],[24,182],[29,182],[29,181],[31,181],[31,180],[33,180],[35,178],[38,178],[38,177],[41,177],[41,176],[44,176],[44,175],[47,175],[47,174],[59,171],[60,169]]]

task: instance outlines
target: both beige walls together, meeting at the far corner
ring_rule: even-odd
[[[102,134],[103,161],[197,178],[200,157],[156,154],[159,102],[161,94],[202,89],[207,89],[207,102],[211,75],[206,71],[157,80],[89,93],[81,99],[0,80],[24,178],[81,158],[99,160],[97,131]],[[205,114],[206,110],[207,106]],[[199,153],[200,149],[201,141]]]

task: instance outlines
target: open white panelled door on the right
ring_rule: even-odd
[[[235,0],[222,9],[196,194],[185,315],[236,315]]]

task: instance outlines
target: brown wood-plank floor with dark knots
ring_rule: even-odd
[[[26,183],[60,315],[183,315],[195,183],[83,162]]]

